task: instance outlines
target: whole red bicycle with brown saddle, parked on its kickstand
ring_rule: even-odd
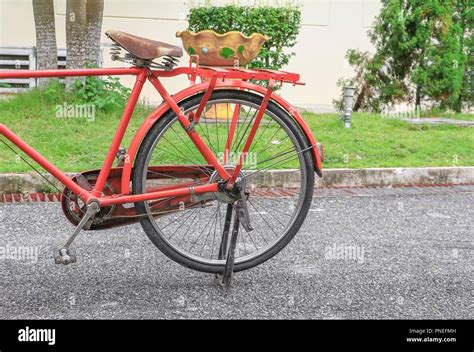
[[[291,241],[311,205],[314,172],[321,176],[321,145],[296,109],[274,93],[277,84],[303,84],[300,76],[203,67],[198,56],[176,67],[179,47],[124,32],[107,35],[112,59],[131,67],[0,71],[0,79],[136,77],[100,170],[70,178],[0,124],[1,135],[65,186],[62,209],[76,228],[56,262],[75,261],[70,246],[81,230],[139,221],[172,260],[222,274],[228,285],[233,272],[265,262]],[[171,96],[160,78],[178,75],[191,85]],[[147,80],[164,101],[114,166]]]

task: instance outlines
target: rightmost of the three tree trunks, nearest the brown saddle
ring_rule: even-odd
[[[86,62],[92,66],[100,66],[100,36],[104,0],[87,0],[86,7]]]

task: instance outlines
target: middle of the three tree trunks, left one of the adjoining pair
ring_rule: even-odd
[[[86,63],[86,0],[66,2],[66,68],[83,68]],[[71,88],[75,78],[66,79]]]

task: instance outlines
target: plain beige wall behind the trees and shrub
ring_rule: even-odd
[[[214,0],[213,4],[232,1]],[[242,0],[241,4],[254,3]],[[65,47],[65,0],[55,0],[58,47]],[[197,1],[166,0],[105,0],[103,29],[116,28],[156,40],[181,45],[175,33],[185,29],[186,14]],[[269,3],[275,3],[270,1]],[[288,71],[299,72],[304,87],[287,87],[282,94],[299,106],[331,109],[332,99],[337,97],[336,81],[350,75],[344,54],[349,48],[370,49],[367,30],[380,9],[376,0],[304,0],[303,21],[298,44],[294,48]],[[105,46],[108,39],[103,36]],[[0,0],[0,47],[34,46],[35,33],[31,0]],[[104,51],[104,65],[117,66]],[[187,58],[183,59],[183,63]],[[130,84],[130,80],[125,83]],[[183,79],[167,81],[171,91],[186,84]],[[159,97],[150,89],[144,97],[150,102]]]

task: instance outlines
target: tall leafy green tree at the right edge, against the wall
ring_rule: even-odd
[[[346,55],[356,71],[355,110],[402,101],[443,111],[472,106],[473,31],[469,0],[383,1],[369,32],[375,53]]]

